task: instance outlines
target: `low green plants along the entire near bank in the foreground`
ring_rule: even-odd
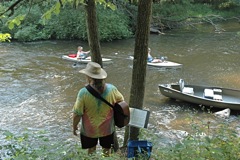
[[[239,160],[240,138],[235,128],[229,122],[218,125],[210,122],[204,123],[190,117],[192,123],[188,135],[179,142],[167,143],[163,146],[153,130],[140,130],[139,139],[153,143],[151,159],[161,160]],[[189,119],[188,119],[189,120]],[[239,119],[238,119],[239,120]],[[102,159],[101,150],[89,157],[85,150],[80,148],[80,143],[74,141],[51,140],[46,131],[32,132],[26,130],[16,136],[9,131],[1,131],[5,143],[0,147],[0,156],[10,159],[56,159],[56,160],[93,160]],[[205,134],[203,134],[205,133]],[[3,137],[3,136],[1,136]],[[162,141],[162,140],[161,140]],[[3,154],[5,153],[5,154]],[[126,153],[113,153],[111,157],[104,159],[125,159]],[[139,160],[145,160],[139,157]]]

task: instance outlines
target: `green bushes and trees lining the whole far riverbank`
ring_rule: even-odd
[[[97,5],[100,41],[113,41],[134,37],[136,29],[137,5],[125,1],[115,2],[116,8]],[[11,2],[0,4],[0,14]],[[29,6],[21,5],[9,17],[1,16],[2,34],[10,33],[12,40],[83,40],[87,41],[86,20],[83,6],[66,5],[58,14],[43,18],[50,4]],[[26,14],[27,13],[27,14]],[[46,14],[45,14],[46,16]],[[13,20],[14,21],[11,21]],[[165,34],[172,29],[195,29],[199,25],[209,25],[213,32],[221,33],[224,28],[219,24],[227,21],[240,22],[240,2],[222,1],[155,1],[152,7],[150,32]]]

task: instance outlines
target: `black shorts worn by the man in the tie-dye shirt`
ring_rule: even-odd
[[[96,146],[98,144],[98,140],[100,141],[100,146],[103,148],[111,148],[111,144],[114,143],[114,132],[111,135],[99,138],[90,138],[84,135],[80,135],[82,149],[88,149]]]

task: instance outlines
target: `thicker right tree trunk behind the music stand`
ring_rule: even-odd
[[[132,108],[143,108],[151,13],[152,0],[139,0],[129,102]],[[138,136],[139,128],[130,127],[130,140],[137,140]]]

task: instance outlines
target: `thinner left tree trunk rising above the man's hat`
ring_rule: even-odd
[[[91,58],[93,62],[97,62],[102,66],[95,0],[87,0],[86,3],[88,43]]]

